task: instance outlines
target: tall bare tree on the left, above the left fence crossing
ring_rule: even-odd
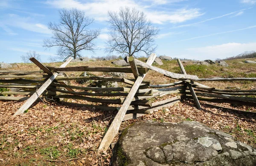
[[[68,57],[74,59],[81,57],[82,50],[93,51],[95,40],[100,33],[99,29],[92,30],[88,26],[93,19],[85,17],[83,11],[77,9],[62,9],[60,22],[48,24],[53,36],[44,40],[44,47],[58,47],[58,58],[66,60]]]

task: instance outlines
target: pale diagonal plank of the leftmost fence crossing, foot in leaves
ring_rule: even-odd
[[[67,66],[68,63],[72,58],[68,58],[66,62],[64,62],[60,67],[65,67]],[[37,100],[37,98],[44,92],[45,89],[52,83],[52,81],[58,76],[58,73],[52,74],[52,76],[37,90],[36,93],[34,93],[27,101],[26,103],[23,104],[23,106],[18,109],[17,112],[13,116],[23,114],[26,109],[28,109],[34,102]]]

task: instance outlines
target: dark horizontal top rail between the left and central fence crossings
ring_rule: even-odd
[[[132,73],[131,68],[128,67],[88,67],[88,66],[76,66],[66,68],[56,68],[47,66],[53,72],[121,72],[121,73]],[[147,68],[138,68],[140,74],[148,72]]]

